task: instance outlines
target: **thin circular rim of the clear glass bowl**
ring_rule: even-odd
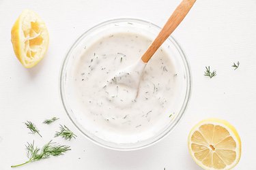
[[[147,148],[149,146],[152,146],[154,143],[156,143],[156,142],[160,141],[161,139],[163,139],[164,137],[166,137],[169,133],[171,133],[171,131],[174,129],[174,127],[177,126],[177,123],[180,122],[181,118],[184,116],[184,112],[186,110],[186,107],[188,105],[188,101],[190,99],[191,86],[192,86],[190,66],[188,64],[188,60],[187,60],[186,55],[185,55],[184,51],[182,50],[180,44],[177,43],[177,41],[175,40],[175,38],[172,35],[169,36],[168,39],[175,46],[176,50],[180,53],[180,56],[182,57],[182,61],[183,61],[184,67],[185,67],[186,85],[187,85],[186,86],[186,95],[185,95],[185,98],[184,98],[184,101],[183,101],[183,104],[182,104],[182,108],[180,109],[180,113],[177,115],[177,118],[175,118],[173,124],[170,124],[170,126],[167,129],[165,129],[160,134],[155,136],[154,141],[152,141],[150,143],[146,143],[143,146],[134,147],[134,148],[117,148],[117,147],[106,145],[105,143],[100,143],[99,141],[89,137],[89,135],[87,135],[84,131],[82,131],[79,128],[79,126],[76,124],[75,120],[73,120],[72,116],[68,112],[68,108],[66,107],[66,105],[68,103],[66,102],[65,92],[64,92],[65,90],[63,88],[64,76],[65,76],[64,73],[65,73],[66,66],[68,65],[67,61],[68,61],[68,58],[70,57],[70,52],[72,52],[72,50],[74,50],[74,48],[76,48],[76,46],[83,39],[83,37],[85,37],[87,35],[87,33],[89,33],[90,31],[93,31],[94,29],[97,29],[98,27],[102,27],[106,24],[111,24],[111,23],[116,23],[116,22],[139,22],[139,23],[143,23],[143,24],[149,24],[150,26],[155,27],[156,29],[159,29],[159,31],[161,29],[161,27],[158,27],[158,25],[153,24],[152,22],[148,22],[148,21],[145,21],[145,20],[137,19],[137,18],[116,18],[116,19],[106,20],[104,22],[100,22],[99,24],[96,24],[94,27],[91,27],[90,29],[85,31],[82,35],[80,35],[76,39],[76,41],[74,41],[74,43],[72,44],[72,46],[70,47],[70,49],[66,53],[66,56],[63,59],[63,62],[61,63],[61,72],[60,72],[60,79],[59,79],[60,80],[59,88],[60,88],[60,95],[61,95],[61,103],[63,104],[65,112],[68,115],[68,118],[70,118],[70,120],[72,121],[74,126],[76,126],[76,128],[79,129],[79,131],[81,131],[81,133],[83,133],[83,135],[85,135],[85,137],[87,137],[87,139],[93,141],[98,146],[102,146],[104,148],[109,148],[111,150],[119,150],[119,151],[139,150],[139,149],[142,149],[142,148]]]

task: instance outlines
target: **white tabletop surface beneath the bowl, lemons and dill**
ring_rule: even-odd
[[[76,140],[63,141],[72,151],[58,158],[31,163],[19,169],[200,169],[188,154],[187,137],[204,118],[228,120],[242,139],[242,157],[235,169],[256,169],[256,1],[198,0],[173,33],[186,52],[193,75],[190,103],[182,121],[165,139],[150,148],[117,152],[96,146],[68,119],[59,95],[63,57],[74,40],[95,24],[112,18],[140,18],[162,26],[180,0],[0,0],[0,169],[23,163],[25,143],[42,146],[52,139],[59,123],[66,124]],[[12,24],[29,8],[38,12],[50,33],[44,60],[33,69],[20,65],[10,42]],[[233,71],[233,62],[240,67]],[[217,76],[203,76],[205,66]],[[47,126],[45,118],[57,116]],[[43,138],[28,134],[23,122],[38,125]]]

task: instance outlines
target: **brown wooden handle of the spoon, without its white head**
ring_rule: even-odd
[[[191,7],[194,5],[196,0],[183,0],[182,3],[176,8],[169,20],[166,22],[165,26],[162,28],[156,39],[147,49],[147,51],[141,57],[144,63],[147,63],[156,50],[164,43],[164,41],[173,33],[177,26],[188,14]]]

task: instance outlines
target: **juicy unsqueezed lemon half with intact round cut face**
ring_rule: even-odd
[[[241,141],[229,122],[208,119],[199,122],[190,131],[188,150],[203,169],[231,169],[240,160]]]

